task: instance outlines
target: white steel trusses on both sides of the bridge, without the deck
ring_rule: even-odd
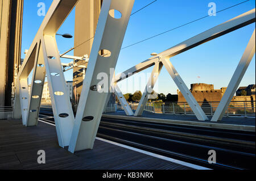
[[[97,75],[99,73],[105,73],[110,77],[110,80],[114,76],[111,74],[110,68],[115,68],[117,64],[134,0],[104,0],[75,118],[69,101],[69,94],[65,87],[63,68],[60,62],[55,35],[77,2],[78,0],[53,1],[20,68],[17,80],[19,87],[16,89],[14,105],[14,116],[19,118],[20,110],[22,110],[22,121],[24,125],[37,125],[44,79],[47,75],[59,145],[61,147],[69,146],[69,151],[72,153],[77,150],[93,148],[101,115],[104,111],[106,100],[109,97],[108,92],[101,93],[100,90],[114,89],[122,106],[126,107],[125,104],[127,102],[118,86],[115,86],[116,83],[127,78],[130,73],[138,73],[153,65],[154,70],[152,71],[151,78],[147,83],[145,93],[135,115],[139,116],[142,114],[147,102],[147,94],[152,92],[160,70],[165,66],[197,119],[207,120],[207,116],[195,98],[193,98],[187,86],[185,86],[185,83],[169,61],[169,58],[255,22],[255,9],[253,9],[149,58],[141,64],[125,71],[123,74],[114,77],[112,86],[109,86],[111,81],[106,86],[100,84]],[[121,18],[114,18],[112,13],[110,13],[112,10],[121,12]],[[252,39],[254,39],[255,43],[255,32]],[[230,83],[232,86],[228,88],[232,91],[230,93],[228,91],[227,95],[224,96],[225,99],[220,104],[220,111],[218,112],[222,113],[225,110],[225,104],[229,101],[226,97],[232,94],[234,87],[236,87],[234,85],[237,85],[241,80],[247,68],[246,66],[249,64],[250,58],[255,52],[255,45],[253,49],[251,44],[253,44],[253,41],[250,41],[242,57],[241,65],[238,65],[239,71],[237,70],[235,72],[239,78],[235,76],[236,78],[232,79]],[[108,53],[102,55],[102,50],[104,53]],[[246,65],[242,64],[243,62],[246,62]],[[30,94],[28,94],[27,77],[32,69],[34,69],[32,87]],[[126,113],[127,115],[132,115],[133,112],[128,107],[126,108]],[[221,118],[221,114],[216,113],[216,117],[218,119]]]

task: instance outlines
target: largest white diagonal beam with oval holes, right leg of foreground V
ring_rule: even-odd
[[[108,85],[103,85],[103,87],[98,85],[97,75],[99,73],[110,75],[110,68],[115,68],[133,4],[134,0],[126,0],[122,3],[119,0],[103,1],[69,144],[68,150],[72,153],[93,148],[108,96],[107,92],[101,93],[98,90],[107,88],[109,91],[111,83],[108,80]],[[110,15],[110,10],[121,12],[121,18],[114,18]],[[109,50],[109,53],[101,56],[102,50]]]

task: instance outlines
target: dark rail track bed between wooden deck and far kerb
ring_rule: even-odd
[[[42,109],[40,116],[52,112]],[[255,169],[252,132],[104,118],[97,136],[210,169]],[[216,151],[217,163],[208,163],[209,150]]]

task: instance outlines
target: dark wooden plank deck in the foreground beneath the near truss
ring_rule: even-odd
[[[38,164],[38,150],[46,151],[46,164]],[[0,120],[0,169],[191,168],[100,140],[96,140],[93,150],[71,154],[57,144],[56,130],[52,125],[39,122],[38,127],[24,127],[20,120]]]

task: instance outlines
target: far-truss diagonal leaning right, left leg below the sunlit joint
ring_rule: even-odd
[[[139,101],[139,105],[137,107],[137,110],[134,113],[134,116],[142,115],[148,100],[148,95],[152,93],[162,68],[163,68],[162,62],[155,62],[155,66],[152,70],[150,79],[147,82],[146,88],[142,94],[141,100]]]

